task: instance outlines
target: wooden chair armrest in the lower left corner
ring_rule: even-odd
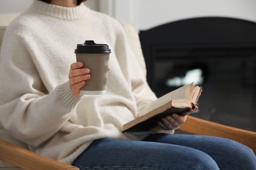
[[[21,169],[78,169],[72,165],[39,156],[38,154],[1,139],[0,160],[10,163],[16,167],[20,167]]]

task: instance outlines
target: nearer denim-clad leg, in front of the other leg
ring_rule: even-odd
[[[150,137],[154,140],[150,141]],[[205,152],[188,146],[161,142],[163,136],[150,137],[146,139],[148,141],[96,140],[77,157],[73,165],[81,170],[219,169],[213,158]],[[158,137],[161,139],[155,141]],[[190,141],[189,137],[187,140]]]

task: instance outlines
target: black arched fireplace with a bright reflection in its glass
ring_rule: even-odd
[[[192,116],[256,131],[256,23],[192,18],[140,31],[140,41],[158,97],[193,81],[203,93]]]

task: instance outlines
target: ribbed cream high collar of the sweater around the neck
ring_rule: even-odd
[[[76,20],[83,18],[87,13],[87,10],[89,10],[84,3],[81,3],[77,7],[60,7],[58,5],[52,5],[37,0],[33,1],[30,9],[36,10],[41,14],[46,14],[63,20]]]

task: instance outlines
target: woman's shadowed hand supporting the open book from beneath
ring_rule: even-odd
[[[198,106],[195,107],[196,108],[193,111],[198,110]],[[178,129],[184,122],[186,122],[186,118],[188,118],[188,114],[190,113],[191,112],[187,112],[184,116],[175,113],[165,116],[164,118],[161,118],[161,121],[157,122],[158,126],[165,130]]]

